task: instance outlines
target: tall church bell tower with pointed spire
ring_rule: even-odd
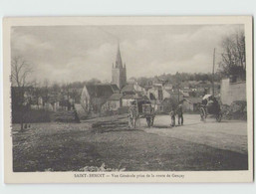
[[[118,44],[116,63],[113,64],[112,68],[112,83],[116,84],[120,90],[127,85],[127,68],[126,64],[123,66],[120,44]]]

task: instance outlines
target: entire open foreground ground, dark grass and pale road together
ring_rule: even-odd
[[[14,124],[14,171],[84,171],[103,165],[110,171],[248,169],[246,122],[201,122],[198,115],[185,114],[183,126],[170,127],[168,115],[157,115],[151,128],[145,119],[137,129],[92,128],[112,119],[117,117],[32,123],[25,132]]]

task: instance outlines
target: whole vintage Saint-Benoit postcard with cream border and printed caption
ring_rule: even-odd
[[[6,183],[252,182],[252,17],[4,18]]]

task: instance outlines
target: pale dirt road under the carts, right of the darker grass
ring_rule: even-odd
[[[177,120],[176,120],[177,122]],[[213,118],[200,121],[198,114],[184,114],[184,125],[171,127],[168,115],[155,116],[154,125],[146,127],[145,119],[140,127],[148,133],[173,137],[194,143],[209,145],[219,149],[247,154],[247,122]]]

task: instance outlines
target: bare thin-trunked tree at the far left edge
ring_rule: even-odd
[[[22,57],[14,57],[11,61],[11,83],[12,83],[12,110],[20,112],[19,121],[21,131],[24,131],[24,116],[29,110],[31,97],[29,92],[30,83],[28,77],[32,73],[29,64]]]

